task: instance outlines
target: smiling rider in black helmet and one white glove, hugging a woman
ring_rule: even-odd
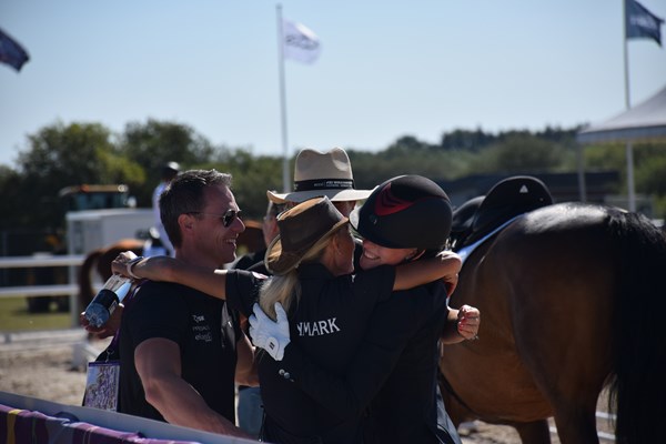
[[[363,238],[363,270],[442,254],[451,228],[446,193],[418,175],[393,178],[375,189],[351,223]],[[453,253],[444,253],[452,254]],[[317,365],[297,344],[281,337],[274,323],[255,310],[250,331],[256,346],[265,337],[286,342],[282,369],[291,381],[341,420],[363,412],[363,443],[460,443],[438,396],[438,342],[476,337],[478,310],[451,310],[446,296],[457,283],[434,282],[394,293],[379,304],[343,376]],[[448,286],[448,289],[447,289]],[[284,332],[284,326],[282,326]]]

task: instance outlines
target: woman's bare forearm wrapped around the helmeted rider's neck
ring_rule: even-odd
[[[463,266],[461,258],[452,251],[443,251],[432,259],[422,259],[397,265],[393,291],[408,290],[438,279],[450,284],[457,283],[457,274]],[[450,294],[453,290],[450,290]]]

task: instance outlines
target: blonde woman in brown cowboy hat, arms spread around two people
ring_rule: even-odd
[[[294,342],[321,365],[341,372],[351,360],[375,305],[405,290],[445,276],[455,276],[461,262],[455,255],[437,256],[418,264],[380,266],[352,275],[354,240],[349,220],[326,198],[315,198],[283,212],[280,236],[269,246],[266,268],[274,273],[262,287],[263,276],[240,270],[195,268],[167,256],[127,263],[122,253],[113,263],[117,273],[179,282],[226,299],[246,315],[258,299],[266,311],[280,301],[290,311]],[[261,297],[259,295],[261,290]],[[286,316],[282,306],[278,316]],[[284,323],[282,325],[285,325]],[[287,326],[289,329],[289,326]],[[284,341],[264,341],[273,356],[284,353]],[[279,361],[259,363],[262,398],[266,412],[264,440],[275,443],[346,442],[350,431],[327,410],[291,382]],[[341,428],[342,427],[342,428]]]

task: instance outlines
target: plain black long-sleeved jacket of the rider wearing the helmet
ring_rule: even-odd
[[[437,443],[437,341],[447,314],[441,282],[396,292],[375,307],[343,376],[317,365],[297,343],[286,347],[281,365],[341,420],[367,407],[365,443]]]

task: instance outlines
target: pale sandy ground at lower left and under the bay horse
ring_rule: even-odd
[[[61,404],[81,405],[85,384],[84,367],[72,369],[71,344],[48,344],[52,339],[20,343],[0,343],[0,391],[39,397]],[[102,350],[104,344],[94,344]],[[482,422],[473,430],[462,428],[463,443],[521,444],[512,427]],[[558,440],[554,437],[554,444]]]

